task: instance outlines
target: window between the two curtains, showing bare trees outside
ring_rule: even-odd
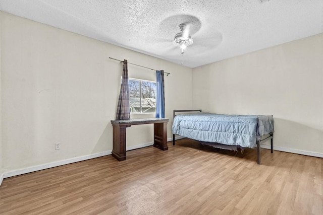
[[[156,112],[156,82],[129,79],[130,113]]]

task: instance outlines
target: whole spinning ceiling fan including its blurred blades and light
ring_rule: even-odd
[[[152,37],[146,37],[145,42],[153,44],[150,45],[151,53],[163,52],[166,56],[183,60],[184,52],[187,57],[197,56],[221,43],[221,32],[207,25],[201,27],[202,23],[197,17],[185,14],[171,16],[155,25]]]

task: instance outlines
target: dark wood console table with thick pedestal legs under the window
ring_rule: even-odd
[[[126,128],[131,125],[153,124],[153,147],[160,150],[168,150],[167,146],[167,123],[169,119],[127,119],[111,120],[113,126],[113,150],[112,156],[118,161],[126,160]]]

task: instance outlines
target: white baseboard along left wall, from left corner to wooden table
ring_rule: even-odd
[[[91,154],[91,155],[85,155],[85,156],[70,158],[70,159],[66,159],[66,160],[62,160],[62,161],[55,161],[55,162],[37,165],[37,166],[33,166],[33,167],[27,167],[27,168],[23,168],[23,169],[4,172],[3,178],[9,178],[9,177],[16,176],[16,175],[22,175],[22,174],[26,174],[26,173],[30,173],[30,172],[35,172],[38,170],[44,170],[44,169],[48,169],[48,168],[52,168],[52,167],[62,166],[65,164],[71,164],[71,163],[85,161],[85,160],[92,159],[92,158],[98,158],[98,157],[102,157],[102,156],[106,156],[106,155],[111,155],[111,153],[112,153],[112,151],[109,150],[106,152],[100,152],[100,153],[95,153],[95,154]]]

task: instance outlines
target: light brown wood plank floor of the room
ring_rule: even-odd
[[[323,214],[323,159],[181,139],[6,178],[0,214]]]

